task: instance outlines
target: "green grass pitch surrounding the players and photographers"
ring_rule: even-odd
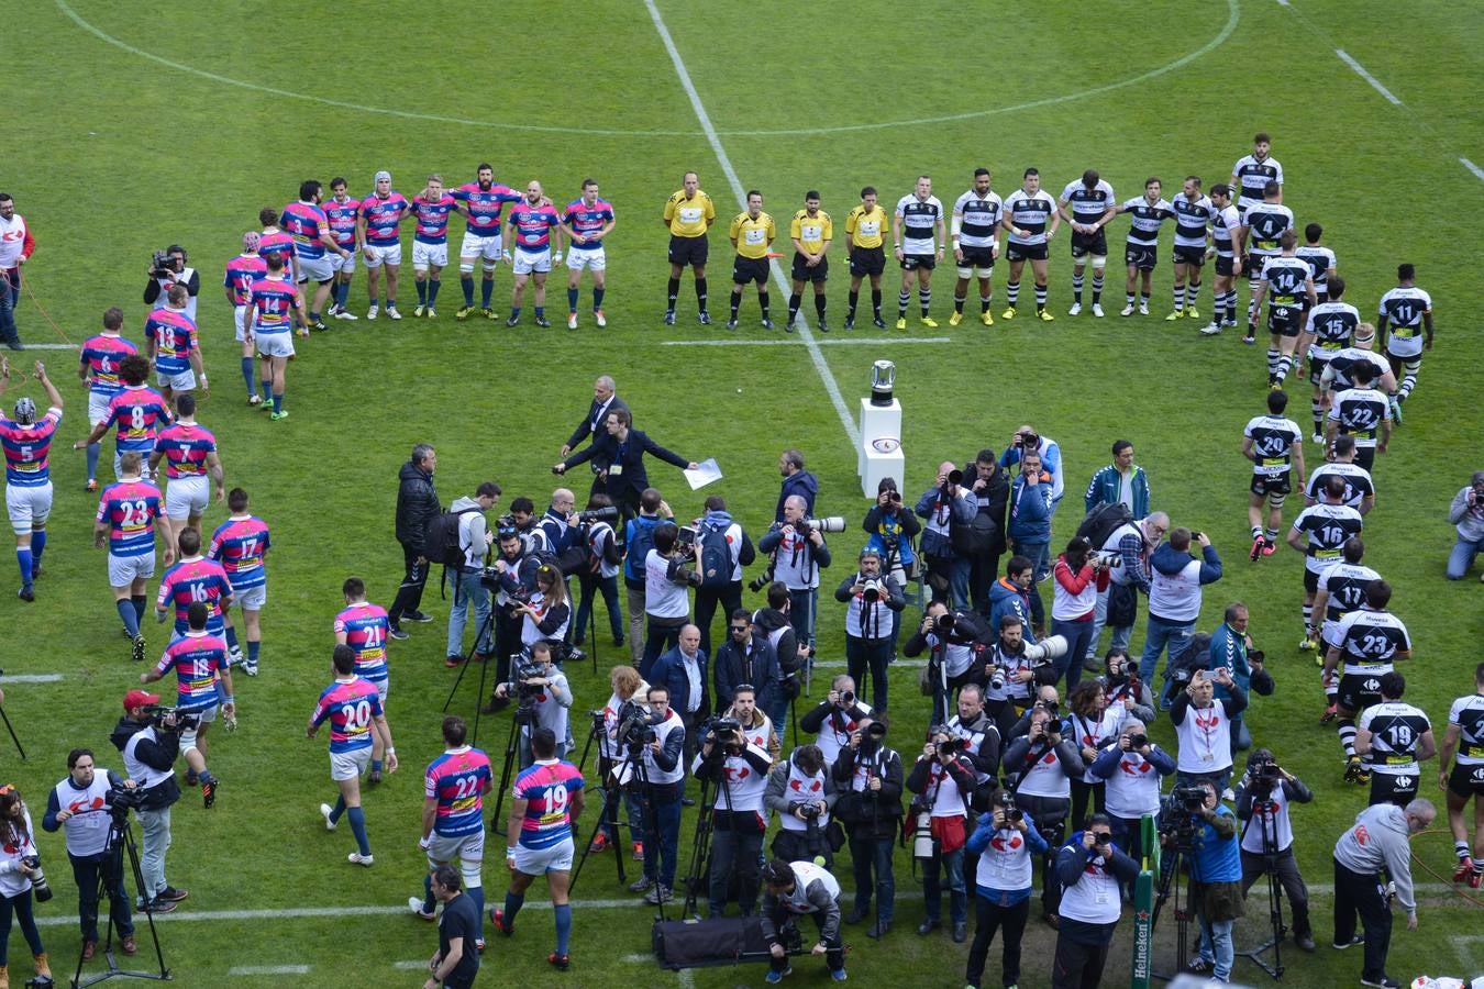
[[[689,285],[681,289],[680,323],[660,325],[665,234],[656,219],[686,169],[696,169],[715,199],[721,231],[745,188],[764,191],[781,228],[806,188],[821,190],[824,208],[843,224],[861,185],[876,185],[890,205],[928,172],[935,194],[951,203],[981,163],[994,169],[1002,196],[1028,165],[1040,169],[1054,194],[1085,168],[1097,168],[1120,199],[1137,196],[1147,175],[1162,176],[1168,196],[1186,173],[1202,175],[1206,187],[1226,181],[1251,135],[1269,130],[1287,173],[1284,199],[1300,225],[1325,225],[1350,286],[1347,300],[1373,314],[1401,261],[1417,265],[1419,283],[1434,298],[1437,347],[1407,403],[1405,426],[1377,466],[1380,497],[1365,541],[1367,563],[1396,587],[1393,609],[1416,642],[1408,700],[1432,715],[1441,734],[1448,701],[1469,689],[1484,635],[1484,587],[1477,578],[1442,578],[1453,543],[1447,503],[1484,466],[1484,345],[1469,320],[1469,300],[1477,297],[1469,261],[1484,206],[1484,172],[1472,165],[1484,162],[1484,116],[1469,95],[1484,73],[1484,13],[1477,6],[1116,0],[1089,15],[1071,4],[985,3],[968,13],[876,0],[807,10],[773,0],[500,9],[355,0],[266,13],[236,3],[159,10],[34,0],[16,4],[6,19],[24,61],[7,59],[0,70],[9,138],[0,188],[15,196],[39,243],[16,313],[25,340],[76,344],[114,304],[125,307],[126,334],[138,340],[150,252],[186,245],[202,271],[200,328],[214,384],[199,420],[218,434],[229,486],[246,486],[254,510],[273,526],[264,673],[237,685],[240,730],[214,737],[212,768],[226,781],[217,807],[205,813],[187,792],[175,814],[169,878],[190,888],[191,899],[160,933],[180,985],[420,982],[418,973],[393,965],[426,958],[436,943],[430,928],[402,910],[420,888],[418,777],[441,750],[439,709],[453,676],[439,661],[442,621],[414,626],[414,638],[392,652],[389,716],[404,770],[367,798],[374,869],[352,870],[344,863],[349,835],[324,833],[315,807],[332,793],[325,744],[303,738],[304,718],[329,679],[329,623],[341,581],[362,575],[381,603],[395,593],[396,470],[414,442],[438,446],[445,501],[494,477],[506,498],[527,494],[543,506],[552,486],[548,467],[586,408],[592,378],[610,372],[638,424],[659,442],[689,458],[718,458],[726,480],[717,491],[754,538],[770,520],[778,452],[800,448],[822,480],[816,513],[850,519],[852,531],[834,540],[847,558],[867,503],[852,476],[855,451],[821,374],[853,409],[871,362],[883,357],[896,363],[905,409],[905,491],[926,489],[944,458],[963,460],[985,445],[1000,449],[1015,426],[1030,421],[1061,443],[1068,503],[1107,463],[1110,442],[1123,436],[1150,473],[1155,507],[1177,525],[1211,534],[1227,575],[1205,595],[1202,627],[1214,627],[1230,601],[1251,606],[1252,635],[1270,657],[1279,689],[1255,706],[1250,724],[1258,743],[1272,746],[1318,793],[1315,805],[1297,811],[1298,856],[1306,878],[1319,884],[1316,936],[1328,937],[1330,848],[1365,798],[1340,783],[1334,734],[1315,718],[1315,667],[1294,648],[1301,562],[1288,552],[1257,565],[1245,559],[1248,469],[1238,448],[1245,421],[1263,411],[1263,348],[1242,347],[1232,332],[1199,337],[1189,323],[1169,329],[1162,320],[1168,262],[1156,273],[1152,316],[1068,319],[1064,236],[1052,246],[1055,323],[1017,319],[985,329],[971,320],[950,331],[951,270],[941,270],[938,331],[913,323],[907,334],[856,331],[853,340],[841,332],[766,335],[748,298],[742,329],[726,338],[739,345],[684,345],[717,343],[724,334],[695,322]],[[677,64],[689,73],[709,133]],[[448,271],[436,322],[334,323],[300,347],[289,369],[292,418],[269,423],[248,409],[232,313],[217,285],[257,211],[294,199],[309,176],[328,184],[346,175],[352,193],[365,194],[372,173],[386,168],[411,194],[433,171],[450,184],[469,181],[481,160],[491,160],[496,178],[512,185],[542,179],[558,203],[577,196],[583,176],[601,181],[619,216],[608,246],[608,329],[600,334],[585,320],[577,334],[537,331],[530,301],[518,329],[456,323],[459,286]],[[1116,245],[1125,228],[1119,221],[1110,231],[1110,313],[1122,304]],[[457,245],[462,221],[451,233]],[[1168,231],[1163,240],[1168,258]],[[724,233],[712,233],[711,243],[711,304],[723,313],[730,255]],[[838,326],[846,291],[838,245],[833,257],[830,316]],[[404,264],[399,292],[408,316],[416,301],[410,267]],[[1002,265],[996,310],[1003,307],[1005,277]],[[508,270],[497,279],[496,305],[503,311]],[[884,279],[887,308],[893,279],[892,271]],[[358,273],[358,313],[364,285]],[[772,294],[776,319],[787,292],[773,285]],[[1024,285],[1022,307],[1028,297]],[[551,314],[558,326],[562,301],[556,283]],[[1209,305],[1206,288],[1202,313]],[[932,343],[923,340],[929,332]],[[40,820],[70,747],[92,746],[101,765],[119,765],[107,732],[138,667],[117,633],[102,558],[91,549],[95,501],[82,491],[82,455],[67,451],[67,442],[85,433],[86,397],[71,380],[74,359],[65,350],[34,356],[64,383],[67,421],[52,458],[56,507],[46,575],[34,605],[0,601],[0,666],[12,678],[64,679],[6,684],[7,712],[30,759],[12,758],[9,743],[0,750],[4,777]],[[1288,388],[1290,414],[1307,433],[1307,384],[1290,380]],[[39,394],[34,384],[16,391]],[[1309,445],[1310,461],[1315,449]],[[656,467],[651,479],[677,513],[699,512],[702,492],[687,492],[668,467]],[[1077,507],[1064,506],[1058,515],[1057,546],[1070,538]],[[1290,507],[1287,519],[1296,512]],[[223,515],[214,507],[208,526]],[[843,577],[843,566],[835,565],[833,580]],[[13,569],[0,569],[4,587],[13,580]],[[424,602],[439,620],[447,617],[448,605],[435,592]],[[843,658],[841,629],[841,609],[833,601],[822,605],[821,658]],[[165,639],[153,626],[148,633],[154,652]],[[1134,641],[1140,644],[1141,633]],[[617,661],[605,639],[601,660],[604,667]],[[568,673],[574,710],[607,697],[605,676]],[[898,669],[895,676],[896,724],[916,732],[926,722],[916,670]],[[819,692],[816,681],[815,697]],[[475,701],[466,684],[456,710],[472,713]],[[505,731],[505,719],[485,721],[482,744],[499,750]],[[896,731],[898,747],[914,747],[908,734]],[[1168,724],[1155,734],[1171,741]],[[1434,778],[1429,767],[1426,789]],[[1444,829],[1441,818],[1437,829]],[[61,841],[46,836],[42,848],[58,890],[42,910],[53,924],[43,937],[58,973],[70,971],[79,947],[71,882]],[[1422,836],[1416,851],[1431,870],[1451,870],[1444,833]],[[876,945],[864,931],[850,931],[852,980],[963,985],[965,949],[942,936],[911,933],[922,906],[910,899],[916,884],[908,869],[902,853],[892,939]],[[1416,876],[1437,882],[1420,867]],[[485,888],[497,902],[499,861],[488,863]],[[540,887],[533,890],[531,903],[542,896]],[[513,942],[491,942],[479,983],[654,980],[643,959],[647,910],[585,903],[628,899],[611,861],[591,861],[579,887],[573,970],[548,970],[549,912],[533,909]],[[1239,947],[1263,937],[1266,909],[1254,900],[1248,913]],[[1107,985],[1128,977],[1126,937],[1128,924]],[[1163,925],[1156,936],[1165,962],[1172,937]],[[1481,937],[1477,902],[1428,888],[1420,930],[1398,925],[1389,971],[1404,982],[1423,971],[1478,974]],[[1052,940],[1046,928],[1027,934],[1022,986],[1049,983]],[[28,973],[24,955],[24,942],[12,937],[18,985]],[[1342,956],[1327,947],[1313,956],[1285,952],[1285,982],[1296,986],[1353,985],[1359,973],[1355,952]],[[761,976],[763,968],[748,967],[678,980],[761,985]],[[1238,964],[1236,976],[1266,980],[1248,962]],[[987,982],[997,977],[994,947]],[[677,977],[657,980],[672,985]],[[800,965],[795,980],[824,982],[822,965]]]

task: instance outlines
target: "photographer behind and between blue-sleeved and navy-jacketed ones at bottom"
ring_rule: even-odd
[[[1048,845],[1060,845],[1071,811],[1071,780],[1080,777],[1086,765],[1076,743],[1061,735],[1061,722],[1049,709],[1031,707],[1030,732],[1011,743],[1002,768],[1006,777],[1014,777],[1015,805],[1036,818]],[[1058,922],[1060,902],[1061,884],[1051,860],[1043,860],[1040,912],[1052,927]]]

